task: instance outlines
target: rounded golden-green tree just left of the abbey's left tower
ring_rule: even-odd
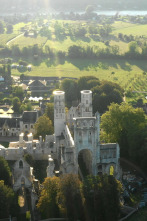
[[[42,138],[45,139],[46,135],[53,134],[52,122],[46,115],[38,118],[37,122],[34,125],[34,128],[36,131],[36,137],[42,136]]]

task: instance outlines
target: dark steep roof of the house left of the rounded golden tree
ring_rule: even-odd
[[[24,111],[22,115],[23,123],[36,123],[37,121],[37,111]]]

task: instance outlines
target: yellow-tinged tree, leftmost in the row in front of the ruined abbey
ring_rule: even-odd
[[[58,218],[59,208],[57,203],[57,194],[59,189],[59,178],[48,177],[43,182],[43,189],[37,204],[42,218]]]

